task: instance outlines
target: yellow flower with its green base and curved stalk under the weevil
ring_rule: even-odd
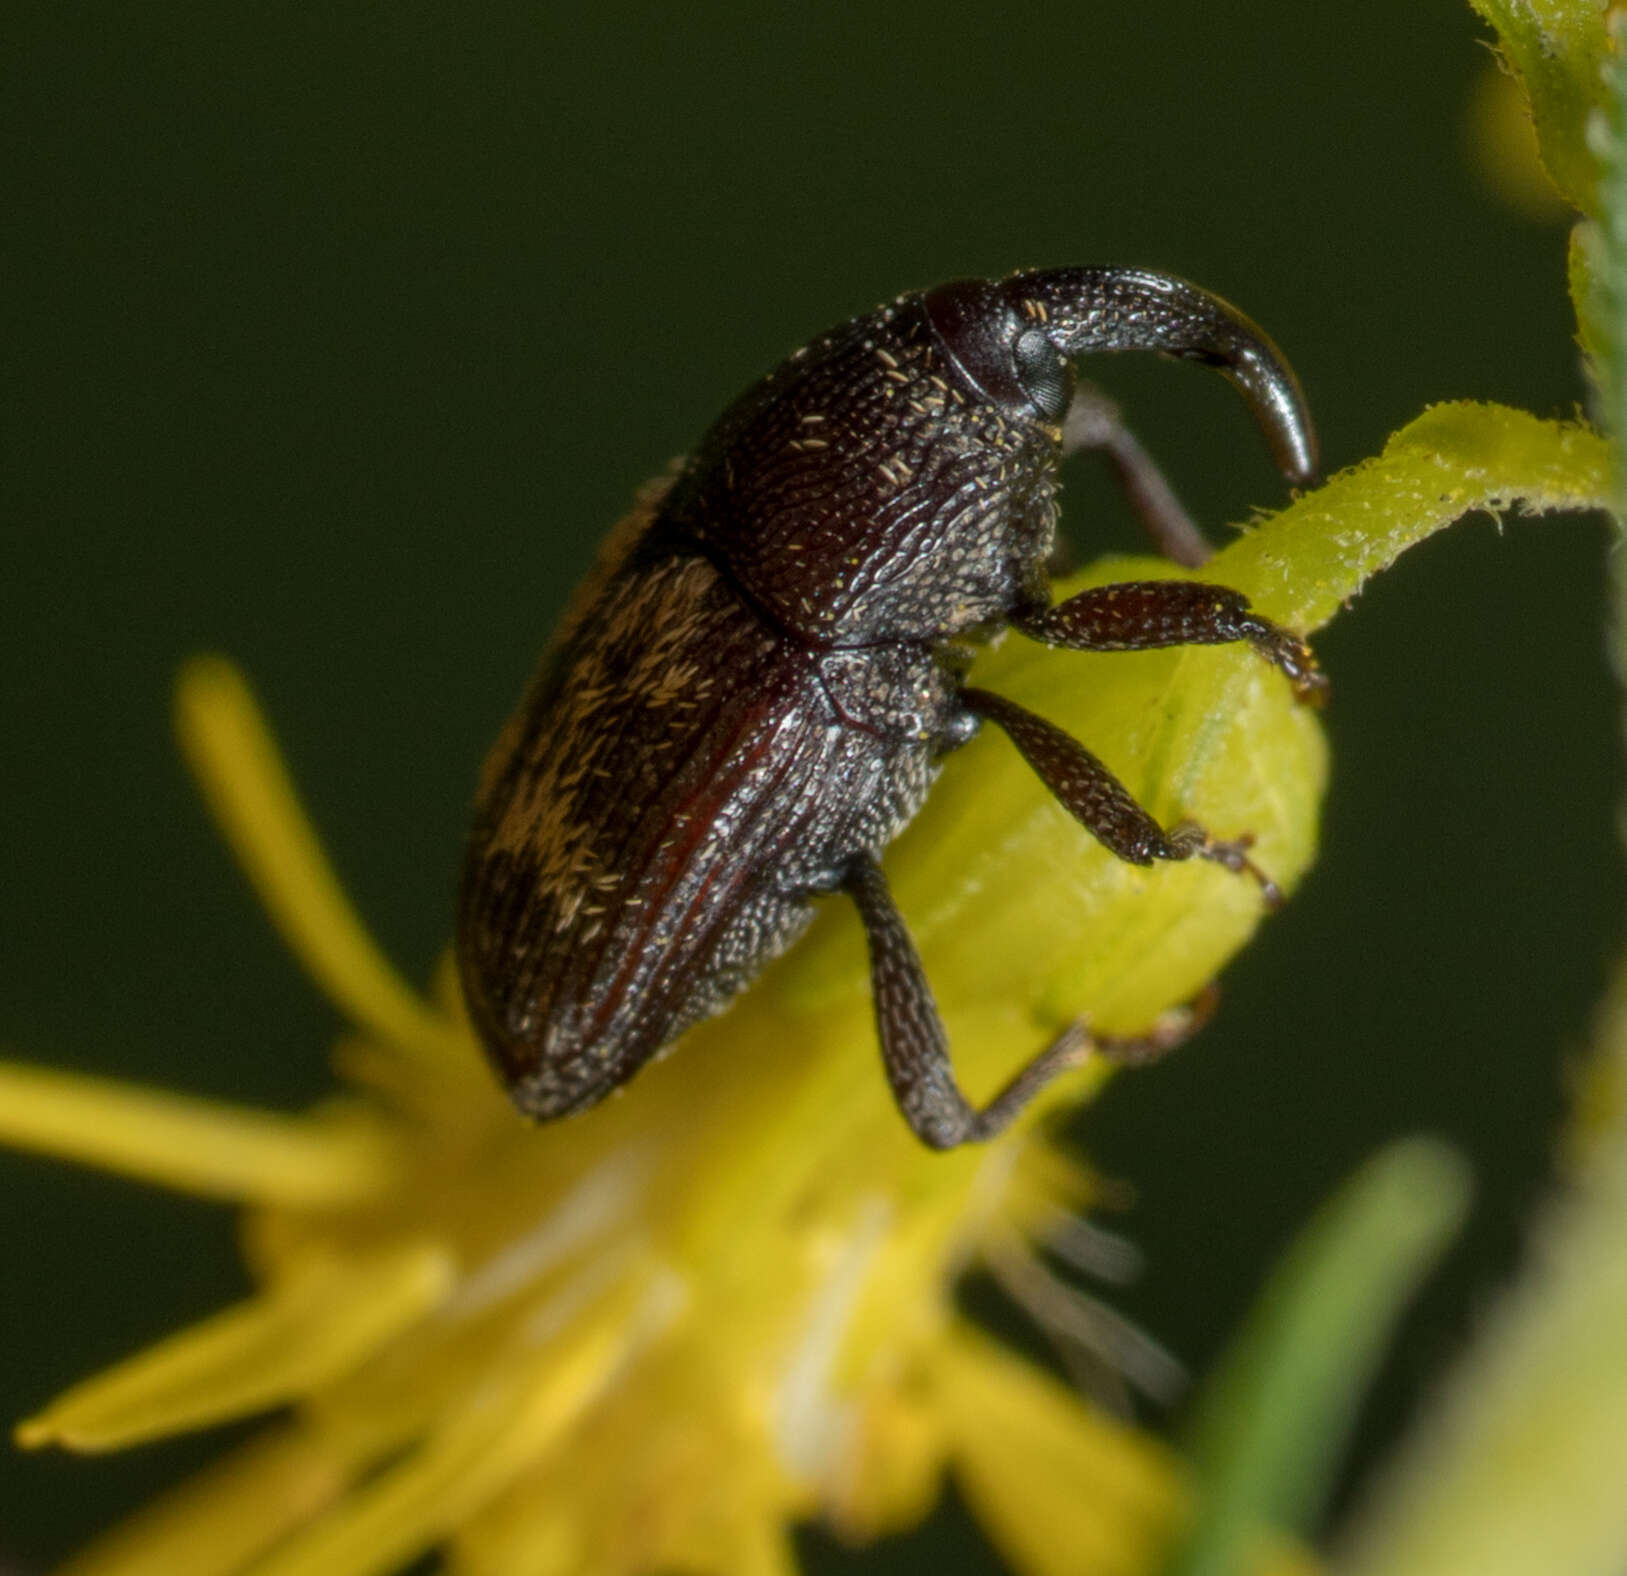
[[[1443,407],[1212,574],[1315,628],[1464,509],[1588,499],[1601,470],[1581,429]],[[1128,572],[1170,571],[1075,584]],[[1090,740],[1165,820],[1253,831],[1284,886],[1306,867],[1321,735],[1248,654],[1007,641],[979,681]],[[347,1093],[283,1117],[0,1065],[0,1138],[246,1205],[259,1286],[18,1439],[114,1449],[281,1408],[76,1576],[361,1576],[430,1548],[465,1576],[779,1573],[792,1522],[908,1526],[945,1470],[1025,1571],[1158,1568],[1186,1501],[1163,1448],[952,1300],[981,1259],[1058,1334],[1087,1319],[1038,1246],[1093,1179],[1043,1119],[949,1155],[911,1138],[846,914],[622,1098],[532,1129],[449,976],[421,999],[377,955],[236,672],[195,662],[179,724],[262,901],[353,1025]],[[1147,1028],[1259,917],[1227,872],[1111,860],[992,737],[957,758],[888,870],[975,1096],[1080,1012]],[[1087,1069],[1059,1093],[1097,1082]]]

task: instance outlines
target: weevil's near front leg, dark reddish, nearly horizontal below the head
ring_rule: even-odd
[[[1328,680],[1310,646],[1250,610],[1248,597],[1204,581],[1124,581],[1092,586],[1066,602],[1012,620],[1046,646],[1074,651],[1152,651],[1160,646],[1225,646],[1248,641],[1280,668],[1311,706],[1328,698]]]

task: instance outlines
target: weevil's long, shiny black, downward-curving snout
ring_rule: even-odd
[[[1316,481],[1316,431],[1300,381],[1235,306],[1147,268],[1043,268],[1002,283],[1019,311],[1040,307],[1030,316],[1064,356],[1157,350],[1215,368],[1248,400],[1284,477],[1295,486]]]

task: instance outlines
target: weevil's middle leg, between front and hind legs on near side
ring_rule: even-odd
[[[960,698],[1010,738],[1062,808],[1108,852],[1132,865],[1207,859],[1251,875],[1272,908],[1282,901],[1277,883],[1248,857],[1253,838],[1222,842],[1193,821],[1165,831],[1072,734],[989,690],[962,690]]]

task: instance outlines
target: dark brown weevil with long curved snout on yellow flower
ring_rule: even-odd
[[[1305,642],[1240,592],[1147,581],[1051,605],[1064,447],[1106,451],[1167,555],[1206,551],[1110,407],[1082,397],[1069,421],[1072,358],[1113,350],[1217,368],[1289,481],[1315,478],[1298,384],[1254,324],[1170,275],[1069,267],[851,319],[646,488],[477,795],[457,961],[521,1111],[600,1101],[721,1010],[828,893],[864,922],[887,1077],[932,1148],[997,1134],[1092,1047],[1150,1056],[1176,1038],[1064,1031],[975,1108],[880,867],[942,758],[992,722],[1119,859],[1209,859],[1274,893],[1248,838],[1165,829],[1084,745],[965,680],[965,642],[1014,626],[1080,651],[1245,641],[1302,699],[1324,691]]]

